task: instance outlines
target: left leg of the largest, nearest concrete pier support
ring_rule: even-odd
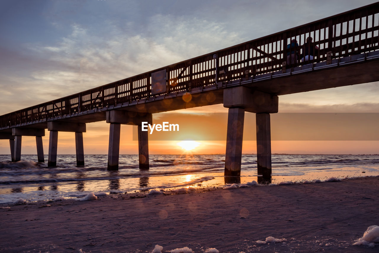
[[[224,176],[241,175],[244,115],[243,108],[229,108]]]

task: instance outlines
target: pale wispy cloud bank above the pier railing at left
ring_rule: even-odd
[[[39,59],[37,63],[34,58],[29,64],[37,63],[38,68],[32,68],[30,73],[2,76],[0,86],[6,86],[12,96],[5,98],[7,106],[0,113],[71,95],[238,42],[237,33],[226,31],[223,24],[161,14],[150,19],[147,30],[134,36],[109,21],[106,34],[74,24],[71,33],[57,43],[26,44],[28,54],[39,56],[37,59],[43,56],[46,62]],[[133,23],[127,25],[130,30],[135,28]],[[25,64],[23,58],[19,62]],[[22,101],[12,101],[15,96]]]

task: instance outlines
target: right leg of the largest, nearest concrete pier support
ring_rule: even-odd
[[[271,129],[270,114],[257,113],[257,165],[258,175],[271,180]]]

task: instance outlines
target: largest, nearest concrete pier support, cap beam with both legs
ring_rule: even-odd
[[[232,171],[232,174],[239,176],[241,172],[241,157],[239,155],[242,153],[243,133],[243,114],[241,110],[244,110],[246,112],[253,112],[257,114],[258,174],[262,175],[262,177],[259,177],[258,180],[262,178],[268,182],[271,179],[271,134],[269,113],[278,112],[278,96],[261,92],[256,89],[239,86],[224,90],[223,103],[224,107],[229,108],[225,176],[230,176],[229,173]],[[235,110],[233,112],[236,116],[232,116],[233,114],[231,114],[231,109]],[[235,117],[235,119],[233,119],[233,117]],[[233,126],[233,121],[241,122],[240,124],[242,127],[240,127],[240,132],[237,130],[229,132],[229,128],[238,128],[238,123],[235,123],[236,126]],[[235,139],[229,136],[233,133],[235,134]],[[229,141],[230,139],[235,140],[235,142]]]

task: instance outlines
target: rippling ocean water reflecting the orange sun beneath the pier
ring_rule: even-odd
[[[138,168],[138,155],[120,155],[119,170],[107,171],[108,155],[85,155],[85,167],[76,166],[75,155],[58,155],[57,167],[36,163],[36,155],[22,155],[10,162],[0,155],[0,204],[17,201],[49,201],[97,194],[139,193],[152,189],[224,187],[227,183],[259,182],[257,156],[242,156],[241,177],[226,179],[225,155],[150,155],[150,169]],[[272,182],[326,180],[330,177],[378,176],[379,155],[288,155],[272,156]]]

